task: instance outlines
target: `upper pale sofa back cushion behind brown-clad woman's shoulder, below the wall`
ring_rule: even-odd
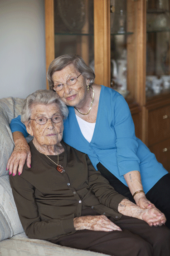
[[[7,161],[13,151],[14,141],[10,130],[10,121],[21,114],[23,99],[0,99],[0,176],[8,174]]]

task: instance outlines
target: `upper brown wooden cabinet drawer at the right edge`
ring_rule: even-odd
[[[148,113],[148,145],[170,137],[170,105]]]

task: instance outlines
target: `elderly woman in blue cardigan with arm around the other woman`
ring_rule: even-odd
[[[96,170],[117,192],[143,208],[157,207],[170,228],[170,174],[136,138],[126,100],[115,90],[94,83],[95,74],[77,55],[63,55],[49,65],[49,89],[68,105],[63,140],[86,153]],[[7,169],[22,173],[31,165],[28,136],[20,116],[11,121],[15,149]]]

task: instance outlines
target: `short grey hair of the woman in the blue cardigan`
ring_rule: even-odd
[[[51,64],[49,65],[49,68],[47,70],[47,80],[49,83],[49,90],[53,90],[53,80],[52,75],[55,71],[60,71],[63,68],[65,68],[67,65],[73,64],[75,69],[78,70],[84,77],[84,79],[89,79],[90,83],[89,85],[92,85],[95,79],[95,74],[91,67],[86,65],[83,58],[78,55],[62,55],[58,58],[54,59]]]

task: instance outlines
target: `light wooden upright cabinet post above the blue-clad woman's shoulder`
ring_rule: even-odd
[[[110,85],[110,1],[94,0],[95,82]]]

